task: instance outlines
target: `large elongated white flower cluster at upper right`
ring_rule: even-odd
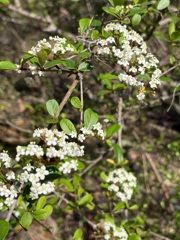
[[[137,87],[139,90],[137,98],[143,100],[147,84],[140,75],[149,74],[148,87],[152,90],[157,88],[160,85],[161,75],[157,65],[158,59],[148,52],[143,38],[134,30],[128,30],[127,26],[110,23],[104,30],[110,36],[97,41],[97,54],[115,58],[122,69],[118,75],[119,80],[129,86]]]

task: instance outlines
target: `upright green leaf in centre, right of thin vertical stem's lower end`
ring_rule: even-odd
[[[98,122],[98,114],[93,112],[91,108],[88,108],[84,112],[84,126],[91,130],[93,125]]]

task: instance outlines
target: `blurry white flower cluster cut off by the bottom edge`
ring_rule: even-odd
[[[118,227],[110,221],[105,221],[103,224],[105,231],[104,240],[127,240],[128,234],[123,227]]]

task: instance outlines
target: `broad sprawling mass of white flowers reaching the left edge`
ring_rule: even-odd
[[[102,139],[104,138],[104,132],[100,123],[95,124],[93,130],[81,128],[81,132],[79,135],[77,135],[76,132],[67,135],[57,129],[36,129],[33,137],[41,139],[41,146],[35,142],[31,142],[27,146],[17,146],[17,154],[14,160],[10,158],[7,152],[4,151],[0,153],[0,167],[6,168],[5,179],[8,182],[6,186],[6,184],[0,180],[0,209],[2,209],[3,206],[11,206],[14,201],[17,200],[18,191],[16,187],[20,185],[30,185],[29,196],[32,199],[38,199],[40,195],[47,195],[55,191],[54,183],[45,181],[46,176],[48,176],[50,172],[42,162],[49,163],[51,159],[56,159],[58,169],[63,174],[77,171],[77,158],[84,155],[84,146],[80,146],[75,141],[72,141],[72,138],[80,140],[81,136],[81,140],[84,140],[87,136],[93,136],[94,134],[97,134]],[[27,157],[29,157],[29,159],[38,159],[41,166],[27,163],[22,167],[21,173],[16,174],[16,172],[12,171],[12,167],[24,157],[26,159]]]

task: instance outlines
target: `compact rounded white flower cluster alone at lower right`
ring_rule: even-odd
[[[109,191],[114,192],[122,202],[127,202],[131,199],[133,189],[136,187],[136,177],[123,168],[110,172],[106,182],[110,183]]]

